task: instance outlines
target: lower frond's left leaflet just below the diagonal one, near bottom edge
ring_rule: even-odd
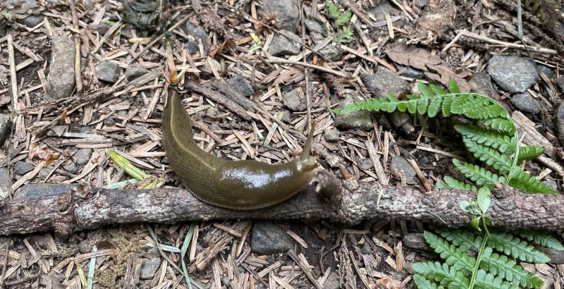
[[[439,282],[447,288],[468,288],[470,280],[460,271],[449,267],[447,264],[439,262],[417,262],[412,264],[412,269],[416,273],[425,276],[433,281]]]

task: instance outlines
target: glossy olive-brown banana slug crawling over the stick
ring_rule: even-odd
[[[176,176],[197,199],[228,209],[260,209],[293,197],[314,176],[317,158],[309,156],[309,149],[315,125],[299,159],[285,164],[226,161],[197,146],[179,92],[171,89],[168,95],[162,120],[164,150]]]

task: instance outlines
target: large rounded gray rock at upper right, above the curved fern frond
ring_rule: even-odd
[[[489,60],[488,73],[503,90],[510,93],[525,92],[539,79],[533,63],[519,56],[494,55]]]

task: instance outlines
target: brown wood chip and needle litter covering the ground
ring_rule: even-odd
[[[13,171],[22,160],[34,166],[23,176],[12,176],[11,192],[27,183],[102,187],[130,179],[109,158],[113,149],[154,176],[159,186],[180,185],[164,161],[161,146],[167,43],[173,44],[176,68],[192,90],[184,104],[195,123],[195,140],[207,152],[233,160],[288,161],[299,154],[309,125],[317,121],[314,142],[320,162],[341,178],[406,185],[405,176],[392,174],[389,166],[393,156],[411,155],[419,161],[411,164],[421,171],[421,187],[435,183],[443,174],[437,164],[446,164],[453,156],[429,132],[429,124],[414,123],[415,133],[405,135],[374,122],[374,130],[342,130],[338,142],[326,142],[324,131],[335,126],[331,108],[338,105],[339,96],[357,90],[369,97],[359,75],[373,73],[377,66],[400,74],[405,69],[398,65],[438,59],[422,70],[428,81],[445,84],[455,78],[464,87],[474,73],[484,70],[490,54],[526,55],[517,38],[513,6],[508,6],[513,4],[505,1],[452,2],[458,9],[456,17],[437,20],[447,22],[439,23],[444,25],[441,29],[438,23],[419,19],[422,11],[415,1],[390,1],[400,13],[384,18],[367,13],[379,1],[341,1],[349,2],[352,22],[359,22],[353,27],[354,42],[336,44],[344,54],[333,62],[314,52],[330,45],[331,39],[314,44],[303,27],[305,13],[300,13],[302,32],[298,32],[306,44],[302,53],[269,55],[274,35],[281,32],[273,18],[257,13],[259,1],[168,5],[163,11],[166,31],[149,33],[149,38],[144,36],[147,31],[121,21],[121,1],[92,1],[90,8],[90,1],[82,0],[69,1],[70,6],[66,1],[57,6],[38,2],[44,21],[35,27],[9,23],[8,33],[0,38],[0,111],[9,111],[13,123],[6,145],[0,148],[0,167]],[[323,2],[300,3],[305,9],[312,9],[312,4],[316,17],[327,22]],[[426,7],[433,5],[436,1]],[[524,19],[525,43],[535,61],[556,75],[529,90],[545,113],[534,119],[520,114],[515,121],[530,132],[523,142],[538,142],[552,154],[532,165],[532,171],[561,184],[564,169],[556,161],[558,147],[551,142],[555,137],[539,123],[551,121],[546,111],[553,109],[558,97],[546,94],[544,88],[558,91],[554,79],[563,54],[558,43],[546,37],[539,20],[529,16]],[[209,32],[207,49],[200,42],[198,52],[188,52],[185,43],[190,37],[181,29],[186,21]],[[259,49],[253,48],[257,42],[251,33],[262,40]],[[57,35],[71,37],[82,59],[76,63],[78,92],[54,101],[44,94],[49,47]],[[537,43],[539,39],[544,41]],[[429,46],[405,51],[402,42]],[[121,68],[116,82],[98,80],[94,67],[102,61]],[[128,80],[123,71],[134,64],[147,68],[147,73]],[[189,75],[198,75],[198,80]],[[229,97],[225,80],[230,75],[243,75],[252,82],[255,94],[250,106]],[[415,84],[412,78],[402,78]],[[300,88],[306,104],[303,111],[286,110],[282,99],[290,88]],[[496,96],[504,103],[505,97]],[[89,132],[81,133],[81,128]],[[78,149],[93,149],[92,156],[76,173],[69,173],[62,166]],[[49,173],[40,175],[45,168]],[[190,276],[192,288],[338,288],[339,283],[341,288],[411,288],[410,264],[429,258],[428,252],[403,246],[405,235],[424,229],[418,222],[374,220],[353,227],[327,221],[276,222],[293,249],[262,256],[250,250],[254,223],[132,224],[70,237],[49,232],[0,237],[0,288],[188,288],[185,276]],[[155,258],[159,264],[154,276],[140,279],[143,262]],[[563,265],[532,264],[527,269],[554,288],[564,284]]]

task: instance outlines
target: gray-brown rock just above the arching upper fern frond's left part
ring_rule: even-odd
[[[388,93],[398,97],[410,89],[406,80],[384,67],[380,67],[373,75],[362,73],[360,80],[374,97],[385,97]]]

